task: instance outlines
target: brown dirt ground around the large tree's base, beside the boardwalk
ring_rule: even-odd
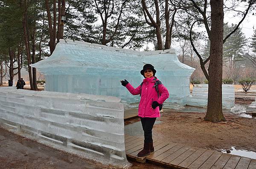
[[[221,150],[235,146],[256,152],[256,119],[224,113],[226,122],[204,121],[205,113],[165,111],[154,126],[153,136],[205,149]]]

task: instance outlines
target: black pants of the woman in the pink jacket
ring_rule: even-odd
[[[153,143],[153,139],[152,139],[152,129],[154,126],[154,122],[156,121],[156,117],[155,118],[150,118],[150,117],[141,117],[140,121],[142,124],[142,128],[144,131],[144,142],[145,143]]]

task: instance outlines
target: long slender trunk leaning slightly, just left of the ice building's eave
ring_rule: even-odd
[[[23,32],[24,32],[24,40],[25,40],[25,47],[26,47],[26,54],[27,54],[27,62],[28,62],[28,70],[29,70],[29,84],[30,89],[35,90],[33,86],[33,79],[32,79],[32,71],[31,71],[31,56],[30,56],[30,48],[29,48],[29,32],[27,27],[27,11],[26,11],[26,4],[25,4],[25,11],[23,14]]]

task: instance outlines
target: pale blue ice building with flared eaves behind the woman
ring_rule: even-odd
[[[116,96],[130,104],[139,102],[140,96],[132,96],[120,80],[139,86],[146,63],[154,65],[157,78],[168,88],[166,102],[186,104],[194,68],[181,63],[174,49],[141,52],[61,40],[49,58],[31,66],[44,73],[47,91]]]

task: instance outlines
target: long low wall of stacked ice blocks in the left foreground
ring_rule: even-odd
[[[0,126],[102,163],[129,166],[119,98],[0,87]]]

